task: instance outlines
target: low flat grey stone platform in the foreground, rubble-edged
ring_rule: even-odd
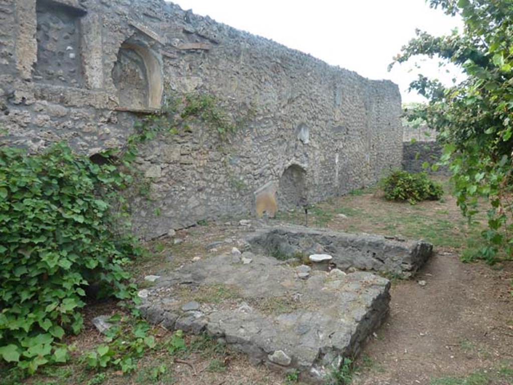
[[[304,270],[250,252],[209,257],[157,280],[141,310],[169,330],[206,332],[254,364],[324,383],[385,319],[390,283],[368,272]]]

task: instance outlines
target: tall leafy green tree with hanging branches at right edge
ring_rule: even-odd
[[[418,30],[394,57],[405,63],[417,55],[459,66],[462,82],[443,85],[419,74],[410,89],[429,103],[408,120],[425,120],[445,145],[455,197],[469,222],[485,211],[482,246],[466,258],[488,263],[513,260],[513,7],[510,0],[428,0],[431,8],[458,15],[462,29],[444,36]],[[392,63],[392,65],[394,64]],[[489,203],[483,210],[483,201]]]

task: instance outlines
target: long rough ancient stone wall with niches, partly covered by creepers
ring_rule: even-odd
[[[93,155],[122,146],[137,119],[185,93],[215,95],[243,118],[227,141],[196,122],[142,148],[151,201],[132,201],[142,237],[223,215],[272,215],[401,164],[396,85],[173,4],[0,0],[0,25],[5,143],[37,151],[65,140]]]

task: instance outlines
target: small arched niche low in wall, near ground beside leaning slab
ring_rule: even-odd
[[[299,164],[288,166],[280,178],[278,204],[280,209],[295,208],[308,203],[306,170]]]

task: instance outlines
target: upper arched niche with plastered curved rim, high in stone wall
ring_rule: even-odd
[[[160,109],[164,83],[160,61],[145,46],[125,42],[112,68],[120,108],[127,110]]]

